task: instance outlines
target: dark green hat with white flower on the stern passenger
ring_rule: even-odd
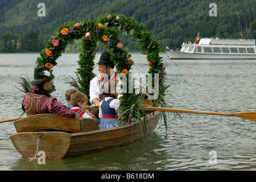
[[[43,81],[52,80],[53,78],[54,76],[51,76],[48,69],[44,65],[42,65],[34,69],[34,81],[31,81],[31,84],[38,85],[41,84],[41,82]]]

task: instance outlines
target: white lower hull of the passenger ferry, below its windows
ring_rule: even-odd
[[[254,55],[227,55],[217,53],[189,53],[180,51],[165,51],[170,59],[256,59]]]

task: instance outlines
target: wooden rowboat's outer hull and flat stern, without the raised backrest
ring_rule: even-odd
[[[160,117],[161,112],[158,111],[151,115],[146,122],[145,135],[155,129]],[[131,123],[110,129],[71,134],[61,131],[17,133],[10,138],[17,151],[25,158],[34,158],[37,151],[43,151],[46,159],[62,159],[127,146],[141,136],[137,123]]]

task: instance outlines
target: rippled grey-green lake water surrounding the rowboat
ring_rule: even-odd
[[[147,72],[146,56],[132,53],[132,73]],[[20,77],[33,80],[39,54],[0,54],[0,119],[21,114]],[[65,84],[75,77],[78,53],[65,53],[54,67],[56,92],[65,103]],[[96,61],[100,54],[97,53]],[[256,60],[170,60],[166,100],[178,109],[242,113],[256,110]],[[94,69],[98,73],[97,69]],[[56,84],[58,83],[58,84]],[[256,122],[217,115],[170,115],[140,143],[78,158],[29,162],[11,143],[13,122],[0,123],[0,170],[255,170]],[[214,155],[213,155],[214,154]]]

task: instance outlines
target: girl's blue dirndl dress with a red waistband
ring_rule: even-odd
[[[114,98],[110,98],[109,100],[103,99],[101,104],[102,110],[102,119],[101,123],[99,123],[99,129],[109,129],[110,127],[117,127],[122,125],[121,121],[117,119],[117,112],[115,109],[111,108],[110,102],[113,101]]]

